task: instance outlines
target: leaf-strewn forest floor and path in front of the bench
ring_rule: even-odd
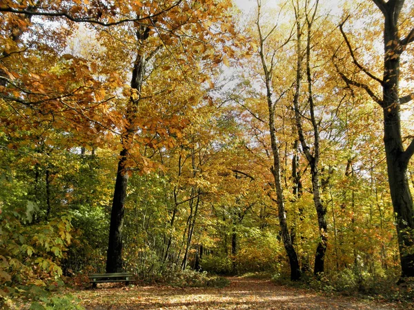
[[[397,304],[344,296],[320,296],[305,289],[275,285],[270,280],[228,278],[217,288],[166,286],[117,287],[77,291],[86,309],[401,309]],[[405,307],[405,309],[408,309]]]

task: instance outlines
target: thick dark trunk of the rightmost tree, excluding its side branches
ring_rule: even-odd
[[[377,3],[377,1],[375,1]],[[400,54],[402,45],[413,41],[413,30],[406,42],[400,40],[398,17],[403,0],[388,1],[386,5],[377,3],[382,10],[384,22],[384,79],[382,82],[384,113],[384,145],[388,168],[388,183],[396,214],[398,245],[402,277],[414,276],[414,208],[413,198],[408,185],[408,161],[414,153],[414,141],[404,151],[400,120]],[[410,37],[411,36],[411,37]]]

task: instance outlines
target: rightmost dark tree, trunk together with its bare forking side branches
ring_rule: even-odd
[[[404,147],[400,116],[401,105],[413,99],[413,94],[400,94],[400,67],[402,54],[407,50],[408,44],[414,42],[414,28],[408,30],[406,37],[401,37],[400,14],[404,8],[404,2],[404,0],[373,0],[384,17],[382,79],[366,69],[355,56],[351,42],[344,32],[345,21],[339,27],[355,66],[382,88],[381,98],[366,83],[339,72],[348,85],[361,87],[373,101],[382,107],[388,184],[396,216],[402,278],[414,276],[414,207],[407,177],[408,162],[414,154],[414,140],[408,147]]]

